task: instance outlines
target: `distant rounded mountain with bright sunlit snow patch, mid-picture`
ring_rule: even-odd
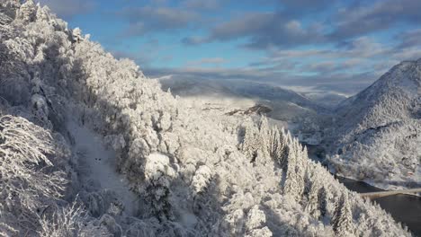
[[[243,80],[195,80],[180,78],[161,79],[163,90],[170,89],[186,101],[202,101],[219,104],[228,110],[246,110],[256,104],[271,108],[267,116],[292,122],[297,118],[315,116],[327,112],[323,106],[309,100],[300,93],[266,83]]]

